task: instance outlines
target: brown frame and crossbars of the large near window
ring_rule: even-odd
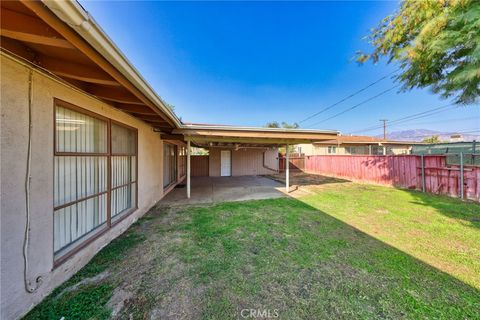
[[[107,126],[107,150],[106,152],[89,152],[89,153],[81,153],[81,152],[58,152],[57,151],[57,113],[56,113],[56,108],[62,107],[65,109],[69,109],[78,113],[81,113],[83,115],[87,115],[89,117],[105,121],[106,126]],[[112,152],[112,124],[115,124],[120,127],[124,127],[128,130],[132,130],[134,135],[135,135],[135,180],[130,182],[129,184],[135,183],[135,205],[130,208],[128,211],[118,214],[112,219],[112,191],[115,189],[118,189],[119,186],[115,187],[115,189],[112,188],[112,157],[113,156],[118,156],[120,154],[113,154]],[[129,215],[131,215],[133,212],[138,210],[138,129],[132,126],[129,126],[127,124],[124,124],[122,122],[110,119],[108,117],[105,117],[103,115],[100,115],[98,113],[95,113],[93,111],[90,111],[88,109],[76,106],[74,104],[71,104],[69,102],[66,102],[64,100],[54,98],[53,99],[53,170],[55,170],[55,157],[58,156],[71,156],[71,157],[79,157],[79,156],[91,156],[91,157],[106,157],[107,158],[107,190],[102,191],[101,193],[96,193],[94,195],[90,195],[81,199],[77,199],[75,201],[70,201],[68,203],[55,206],[55,198],[53,198],[53,212],[52,212],[52,218],[55,219],[55,211],[65,208],[71,205],[74,205],[76,203],[85,201],[89,198],[97,197],[100,195],[106,194],[107,197],[107,219],[104,223],[101,225],[95,227],[91,231],[87,232],[86,234],[82,235],[80,238],[72,241],[70,244],[65,246],[64,248],[60,249],[57,251],[61,252],[62,250],[66,250],[63,254],[60,254],[59,256],[55,253],[55,248],[54,248],[54,241],[52,241],[52,252],[53,252],[53,268],[58,267],[65,261],[67,261],[69,258],[77,254],[79,251],[84,249],[86,246],[88,246],[90,243],[95,241],[97,238],[100,236],[104,235],[107,231],[111,230],[115,225],[123,221],[125,218],[127,218]],[[128,154],[128,156],[132,156],[131,154]],[[53,179],[53,184],[55,184],[55,174],[52,175]],[[53,191],[55,193],[55,190]],[[52,221],[53,221],[52,219]],[[55,236],[55,224],[52,223],[52,235]],[[69,248],[72,246],[71,248]]]

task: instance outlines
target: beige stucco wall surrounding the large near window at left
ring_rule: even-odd
[[[25,229],[25,175],[28,141],[30,68],[1,55],[1,318],[13,319],[68,279],[93,255],[163,196],[162,141],[145,123],[109,105],[33,72],[31,230],[29,279],[43,284],[24,289],[22,245]],[[138,129],[139,209],[72,258],[53,269],[53,98],[107,116]]]

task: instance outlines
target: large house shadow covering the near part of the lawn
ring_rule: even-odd
[[[152,209],[141,224],[100,251],[101,259],[89,263],[100,262],[98,269],[105,270],[108,261],[112,274],[107,285],[132,291],[120,318],[151,318],[154,310],[161,310],[185,319],[238,319],[242,309],[275,309],[280,319],[478,318],[476,288],[302,201],[225,202],[168,214],[158,210]],[[136,244],[137,257],[153,255],[142,268],[132,250],[119,254],[123,239],[138,233],[141,241],[126,243]],[[160,250],[159,234],[175,240],[162,242]],[[129,277],[113,267],[118,259],[131,270]],[[166,261],[178,261],[176,269],[185,272],[165,272]],[[89,265],[84,270],[92,276],[97,268]],[[74,279],[81,281],[81,275]],[[89,286],[101,298],[82,300],[85,288],[80,287],[61,304],[53,296],[36,309],[59,308],[51,315],[74,314],[78,319],[107,318],[108,296],[103,293],[111,294],[113,288]],[[186,306],[194,312],[186,314]]]

